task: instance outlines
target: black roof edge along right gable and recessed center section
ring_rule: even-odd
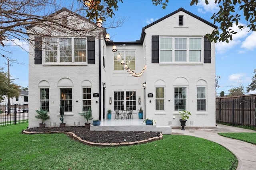
[[[156,21],[150,23],[149,25],[146,25],[145,27],[143,27],[141,35],[140,35],[140,40],[136,40],[136,41],[133,41],[133,42],[125,42],[125,41],[123,41],[123,42],[113,42],[113,41],[109,41],[109,42],[107,42],[107,45],[113,45],[113,44],[115,44],[115,45],[122,45],[122,44],[126,44],[126,45],[142,45],[143,40],[144,40],[145,35],[146,35],[145,29],[151,27],[152,25],[155,25],[156,23],[158,23],[158,22],[160,22],[162,20],[165,20],[166,18],[168,18],[168,17],[170,17],[170,16],[172,16],[172,15],[174,15],[174,14],[180,12],[180,11],[185,12],[186,14],[188,14],[188,15],[190,15],[190,16],[192,16],[192,17],[194,17],[194,18],[196,18],[196,19],[198,19],[198,20],[200,20],[200,21],[210,25],[211,27],[214,27],[215,29],[218,28],[213,23],[210,23],[209,21],[206,21],[203,18],[200,18],[199,16],[196,16],[195,14],[193,14],[191,12],[188,12],[187,10],[184,10],[184,8],[179,8],[178,10],[176,10],[176,11],[174,11],[174,12],[172,12],[172,13],[170,13],[170,14],[162,17],[162,18],[160,18],[159,20],[156,20]]]

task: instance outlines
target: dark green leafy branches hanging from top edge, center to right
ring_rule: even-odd
[[[78,0],[82,1],[82,0]],[[190,5],[197,5],[199,0],[191,0]],[[96,18],[101,18],[105,21],[105,18],[101,15],[104,14],[112,18],[114,16],[114,10],[118,10],[118,2],[122,0],[93,0],[93,4],[88,8],[87,17],[89,20],[95,20]],[[162,5],[165,9],[169,0],[152,0],[154,5]],[[208,4],[208,0],[205,0]],[[238,25],[240,29],[249,27],[250,30],[256,31],[256,2],[255,0],[215,0],[215,4],[218,4],[220,10],[214,13],[211,19],[215,23],[219,23],[220,27],[214,29],[212,33],[206,34],[206,36],[214,42],[232,40],[232,35],[236,34],[231,27],[235,24],[238,25],[239,20],[242,17],[247,21],[246,25]],[[244,15],[241,16],[239,12]]]

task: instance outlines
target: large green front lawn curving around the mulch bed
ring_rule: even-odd
[[[224,147],[186,135],[143,145],[94,147],[64,134],[22,134],[27,123],[0,128],[1,170],[235,170]]]

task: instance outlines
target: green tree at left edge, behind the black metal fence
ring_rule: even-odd
[[[3,68],[0,68],[0,102],[4,100],[4,96],[13,98],[20,95],[20,86],[14,84],[12,80],[9,84],[8,74],[2,70]]]

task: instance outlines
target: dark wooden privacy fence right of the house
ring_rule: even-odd
[[[256,94],[216,98],[216,122],[256,127]]]

